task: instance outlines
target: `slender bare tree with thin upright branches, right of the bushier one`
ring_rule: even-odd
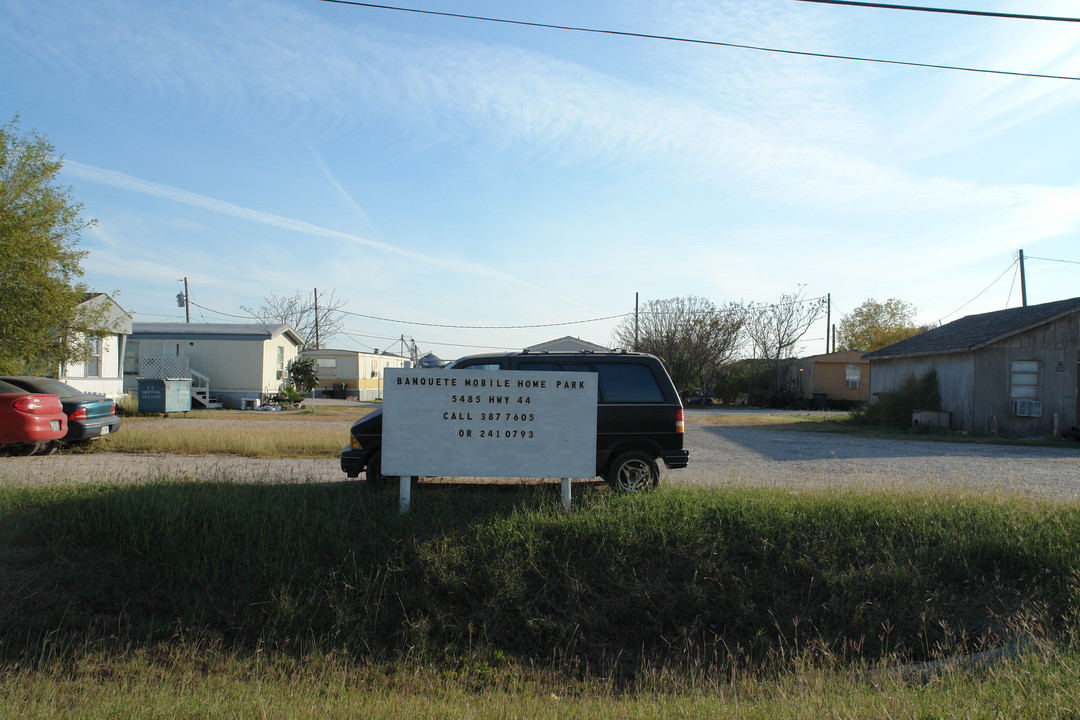
[[[825,298],[804,298],[804,286],[780,301],[746,308],[745,332],[754,357],[772,365],[773,399],[780,395],[781,362],[795,356],[795,345],[825,312]]]

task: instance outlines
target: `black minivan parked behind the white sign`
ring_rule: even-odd
[[[596,372],[596,475],[618,491],[656,487],[660,481],[658,460],[670,468],[686,467],[689,462],[689,452],[683,449],[683,403],[667,370],[653,355],[523,351],[470,355],[447,368]],[[341,470],[349,477],[366,472],[373,488],[383,486],[382,411],[357,420],[349,434],[350,445],[341,451]]]

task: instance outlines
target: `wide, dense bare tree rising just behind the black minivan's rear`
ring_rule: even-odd
[[[646,302],[636,317],[623,318],[612,337],[617,345],[663,361],[679,390],[710,389],[734,355],[742,323],[741,305],[721,308],[691,295]]]

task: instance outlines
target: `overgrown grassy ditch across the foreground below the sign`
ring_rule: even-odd
[[[1080,712],[1076,506],[429,494],[0,490],[0,717]],[[1025,652],[918,665],[998,648]]]

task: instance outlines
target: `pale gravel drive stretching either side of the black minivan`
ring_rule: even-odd
[[[692,419],[693,412],[689,413]],[[674,485],[811,488],[919,488],[1015,492],[1080,501],[1080,446],[1032,448],[878,440],[768,427],[689,423],[690,466]],[[0,458],[0,484],[143,483],[190,478],[246,483],[338,483],[337,460],[92,453]]]

